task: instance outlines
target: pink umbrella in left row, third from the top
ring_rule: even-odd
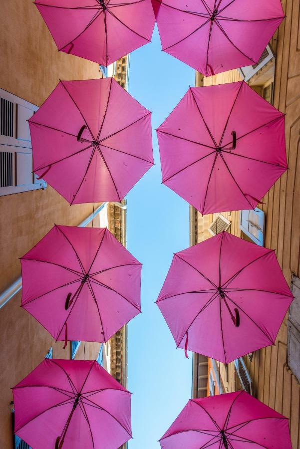
[[[68,340],[106,342],[141,311],[141,264],[106,228],[55,225],[21,268],[22,307],[56,340],[67,325]]]

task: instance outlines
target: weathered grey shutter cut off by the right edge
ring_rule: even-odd
[[[300,382],[300,278],[292,277],[291,290],[295,297],[288,318],[288,364]]]

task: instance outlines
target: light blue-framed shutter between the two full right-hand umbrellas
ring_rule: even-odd
[[[260,246],[264,246],[264,226],[265,214],[261,209],[240,212],[240,229]]]

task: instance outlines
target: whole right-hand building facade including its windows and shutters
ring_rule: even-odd
[[[202,216],[190,207],[190,233],[192,244],[211,237],[217,228],[217,232],[227,230],[276,250],[295,296],[276,344],[227,367],[209,359],[207,395],[245,389],[290,419],[292,444],[297,449],[300,448],[300,1],[284,0],[283,7],[287,17],[257,65],[209,78],[197,73],[196,86],[244,79],[284,112],[289,170],[255,211]],[[197,357],[194,355],[195,360]],[[199,396],[198,385],[194,369],[193,397]]]

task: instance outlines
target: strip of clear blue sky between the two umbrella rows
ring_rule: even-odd
[[[142,311],[128,326],[128,389],[132,396],[129,449],[160,448],[160,437],[191,397],[192,354],[176,349],[154,304],[173,252],[189,246],[189,206],[161,184],[155,128],[176,106],[195,71],[161,51],[157,28],[152,43],[131,54],[129,92],[153,112],[155,166],[127,195],[128,250],[143,263]]]

